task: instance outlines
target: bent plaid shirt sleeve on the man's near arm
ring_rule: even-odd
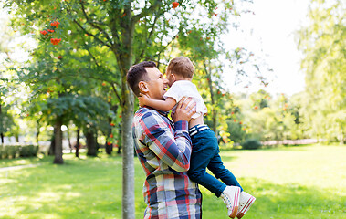
[[[182,120],[175,122],[174,133],[172,133],[161,116],[154,113],[146,114],[140,121],[142,130],[144,130],[142,142],[174,171],[188,171],[191,157],[188,122]]]

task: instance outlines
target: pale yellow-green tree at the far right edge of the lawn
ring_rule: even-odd
[[[318,139],[345,141],[346,130],[346,26],[345,4],[340,0],[313,0],[309,26],[299,31],[304,54],[309,130]]]

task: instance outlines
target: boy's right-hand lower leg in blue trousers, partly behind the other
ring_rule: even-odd
[[[224,163],[221,161],[221,157],[219,155],[219,150],[217,147],[217,153],[210,160],[208,164],[208,169],[215,174],[217,179],[221,179],[226,185],[234,185],[240,187],[241,191],[243,188],[240,186],[240,183],[236,180],[236,176],[225,168]]]

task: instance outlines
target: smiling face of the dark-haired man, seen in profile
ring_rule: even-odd
[[[152,99],[163,99],[163,94],[166,92],[168,80],[163,77],[163,74],[157,68],[145,68],[150,79],[148,84],[148,95]]]

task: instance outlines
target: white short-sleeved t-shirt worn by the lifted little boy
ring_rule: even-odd
[[[207,112],[204,100],[198,93],[197,87],[189,80],[175,81],[170,89],[163,95],[164,99],[173,98],[178,103],[183,97],[190,97],[196,103],[196,112],[192,116],[193,119],[204,115]],[[177,104],[172,111],[175,112]]]

